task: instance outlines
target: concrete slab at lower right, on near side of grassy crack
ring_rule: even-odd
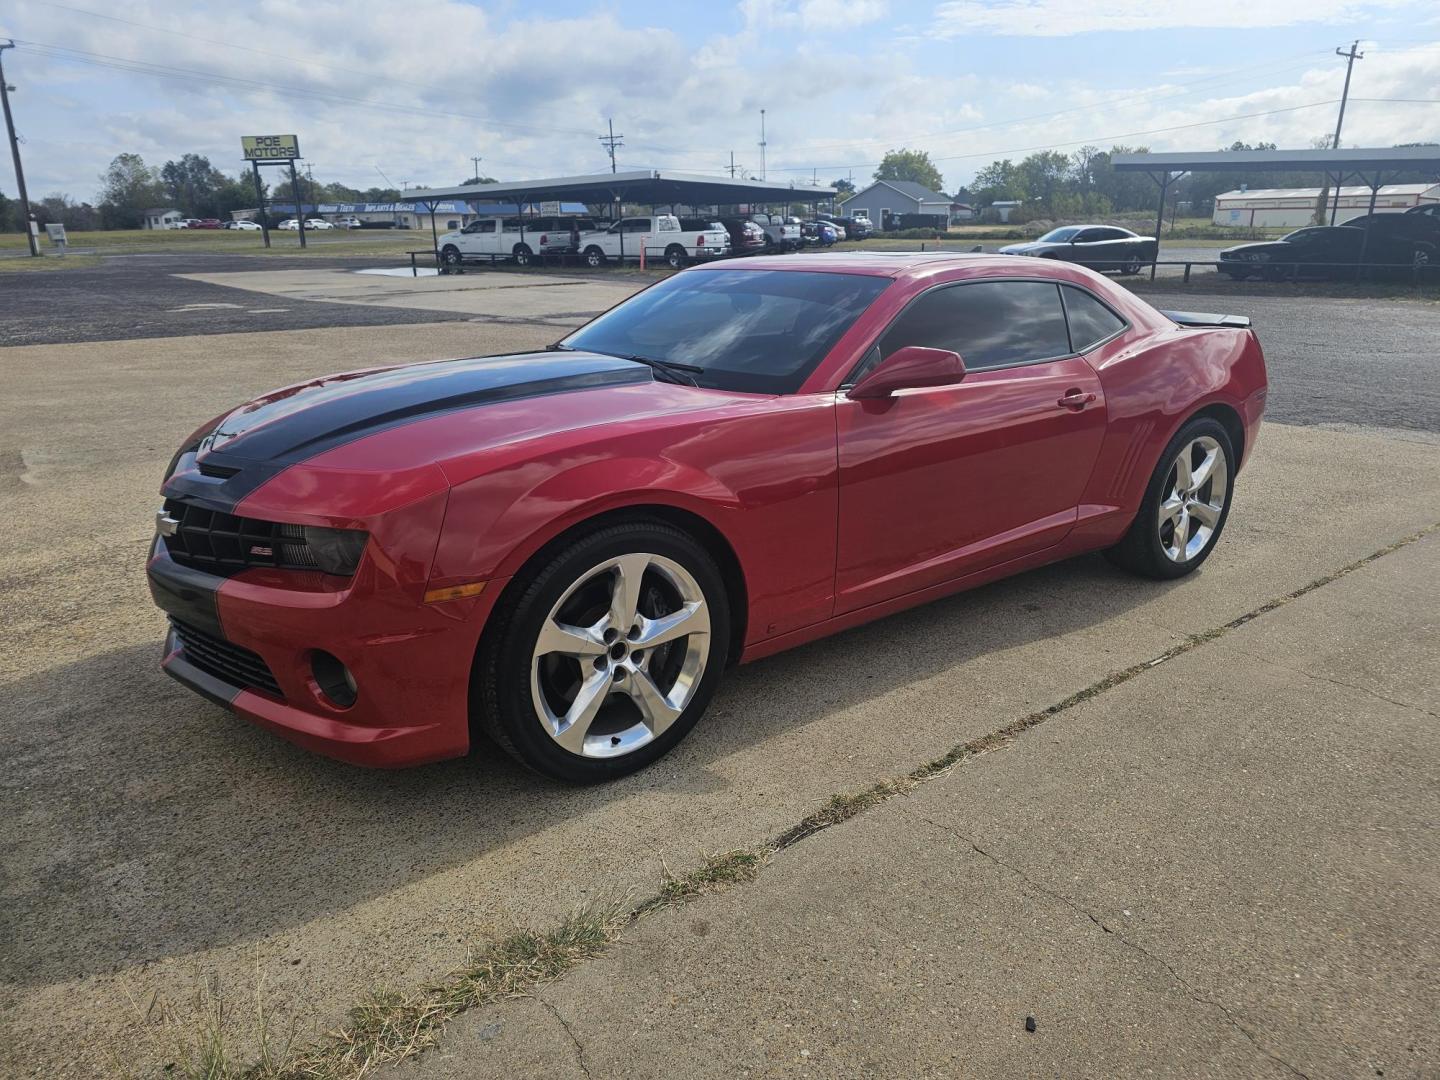
[[[1437,1076],[1437,704],[1431,533],[382,1074]]]

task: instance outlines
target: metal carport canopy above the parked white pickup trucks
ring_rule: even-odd
[[[615,200],[664,206],[732,203],[814,203],[834,197],[829,187],[795,187],[772,184],[765,180],[732,180],[730,177],[704,176],[701,173],[671,173],[661,170],[639,170],[629,173],[596,173],[593,176],[560,176],[546,180],[511,180],[503,184],[465,184],[462,187],[410,189],[406,199],[433,202],[438,199],[465,199],[477,203],[524,203],[536,202],[582,202],[609,203]]]

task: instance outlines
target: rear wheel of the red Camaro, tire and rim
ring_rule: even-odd
[[[1171,439],[1145,488],[1140,510],[1119,544],[1106,552],[1142,577],[1184,577],[1215,549],[1230,517],[1236,452],[1224,425],[1191,420]]]

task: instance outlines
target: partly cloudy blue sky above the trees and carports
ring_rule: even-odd
[[[946,192],[1084,144],[1440,141],[1434,0],[6,0],[32,199],[94,200],[120,153],[298,134],[317,180],[446,186],[609,168],[864,186],[890,148]],[[14,179],[0,157],[0,190]]]

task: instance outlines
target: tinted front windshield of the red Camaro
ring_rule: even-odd
[[[694,364],[698,386],[795,393],[890,284],[863,274],[727,269],[677,274],[563,344]]]

